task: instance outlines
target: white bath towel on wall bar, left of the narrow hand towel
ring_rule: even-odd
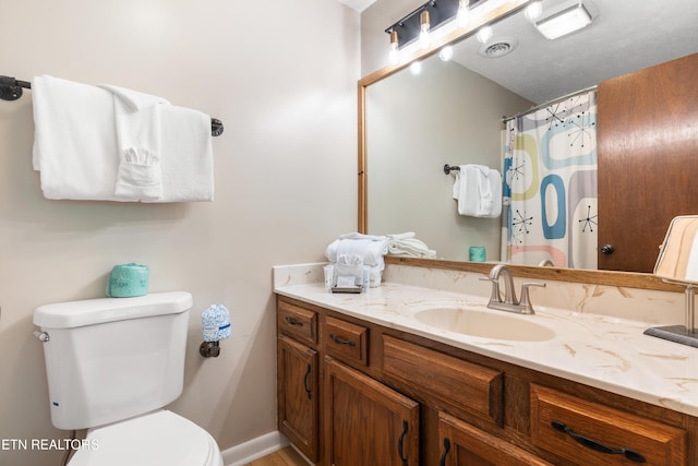
[[[113,98],[52,76],[32,82],[34,169],[47,199],[113,200],[119,155]]]

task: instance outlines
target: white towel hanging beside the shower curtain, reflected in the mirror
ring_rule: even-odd
[[[502,214],[502,176],[484,165],[461,165],[453,195],[460,215],[496,218]]]

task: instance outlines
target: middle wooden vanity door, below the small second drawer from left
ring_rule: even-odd
[[[419,404],[332,358],[325,370],[326,464],[418,466]]]

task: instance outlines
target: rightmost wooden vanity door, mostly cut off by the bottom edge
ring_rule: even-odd
[[[438,444],[442,447],[438,466],[552,466],[445,413],[438,414]]]

